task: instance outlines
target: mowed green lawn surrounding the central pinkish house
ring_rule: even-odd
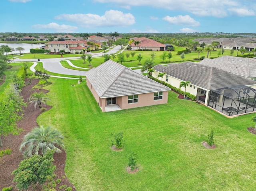
[[[169,92],[168,104],[103,113],[83,81],[50,79],[53,106],[38,117],[65,136],[65,171],[78,191],[254,190],[256,135],[247,114],[226,118]],[[75,85],[72,87],[71,85]],[[214,129],[217,148],[202,146]],[[110,132],[124,133],[124,149],[111,150]],[[139,171],[128,174],[128,156]]]

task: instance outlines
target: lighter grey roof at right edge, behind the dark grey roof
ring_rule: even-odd
[[[244,77],[256,77],[256,59],[234,56],[222,56],[214,59],[203,59],[200,64],[214,66]]]

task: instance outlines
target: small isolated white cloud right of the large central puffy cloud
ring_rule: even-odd
[[[183,25],[183,26],[192,26],[192,27],[197,27],[200,25],[200,23],[193,18],[191,18],[189,15],[178,15],[176,17],[170,17],[166,16],[163,18],[163,20],[166,20],[169,24],[174,24],[174,25]]]

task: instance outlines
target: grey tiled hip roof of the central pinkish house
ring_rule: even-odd
[[[112,60],[87,71],[86,78],[100,98],[170,90],[170,88]]]

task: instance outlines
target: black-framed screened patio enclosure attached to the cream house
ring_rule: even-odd
[[[256,111],[256,90],[244,85],[210,91],[208,106],[228,115]]]

